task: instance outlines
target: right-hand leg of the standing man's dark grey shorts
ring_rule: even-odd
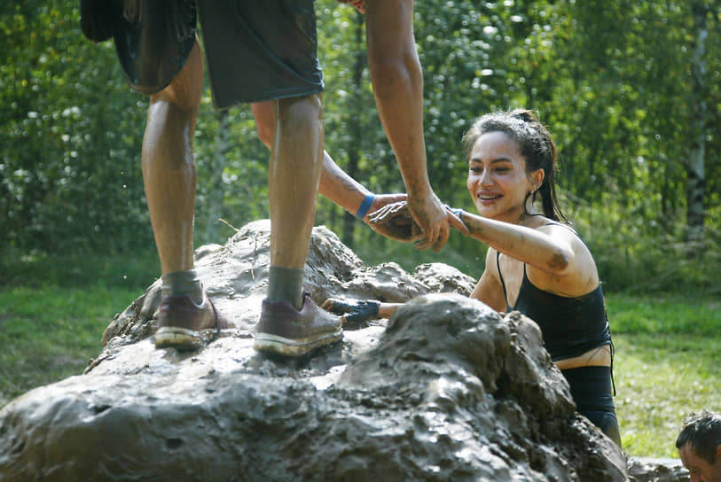
[[[198,0],[213,102],[241,102],[317,94],[313,0]]]

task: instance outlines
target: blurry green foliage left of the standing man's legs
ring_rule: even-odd
[[[143,204],[143,97],[112,44],[84,41],[65,2],[3,4],[0,237],[21,249],[133,249],[152,239]]]

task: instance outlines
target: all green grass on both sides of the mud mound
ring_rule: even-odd
[[[0,407],[81,374],[114,314],[157,276],[154,256],[35,255],[0,263]],[[721,411],[721,298],[607,293],[607,308],[624,449],[677,457],[683,419],[701,408]]]

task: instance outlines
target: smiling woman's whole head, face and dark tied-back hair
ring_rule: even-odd
[[[528,200],[532,205],[538,195],[546,217],[565,220],[556,198],[556,146],[535,113],[515,109],[483,115],[463,136],[463,146],[470,167],[467,187],[480,214],[492,206],[505,208],[500,203],[511,200],[508,190],[522,190],[523,214],[529,214]],[[509,179],[505,175],[519,174],[517,171],[528,183],[517,183],[517,179],[513,186],[504,183]],[[497,185],[492,186],[494,183]]]

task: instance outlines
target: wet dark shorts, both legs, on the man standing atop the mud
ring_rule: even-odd
[[[175,8],[168,8],[171,3]],[[196,5],[140,4],[135,21],[116,22],[115,47],[130,85],[153,94],[172,82],[190,55]],[[197,13],[217,108],[323,90],[313,0],[197,0]]]

